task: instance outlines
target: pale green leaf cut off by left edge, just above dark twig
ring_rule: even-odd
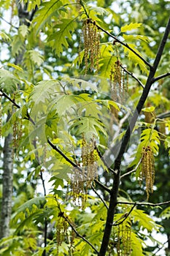
[[[19,84],[20,80],[12,72],[6,69],[0,69],[0,88],[7,92],[7,94],[14,93]]]

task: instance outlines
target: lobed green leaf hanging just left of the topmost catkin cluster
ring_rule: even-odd
[[[69,44],[67,39],[72,39],[72,32],[76,29],[77,23],[75,19],[64,18],[61,19],[61,23],[55,26],[57,31],[49,38],[49,44],[55,49],[58,56],[63,52],[63,46],[68,48]]]

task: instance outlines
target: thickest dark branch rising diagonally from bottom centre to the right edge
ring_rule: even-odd
[[[155,57],[155,61],[153,63],[153,66],[150,67],[150,73],[148,75],[146,85],[144,86],[144,89],[142,91],[142,96],[140,97],[139,102],[136,106],[136,110],[134,111],[134,115],[131,118],[131,122],[128,125],[128,128],[126,129],[125,135],[123,137],[123,142],[120,146],[120,151],[119,151],[119,153],[118,153],[118,155],[115,159],[115,168],[114,168],[114,170],[117,170],[117,175],[115,175],[114,182],[113,182],[113,185],[112,185],[112,190],[111,190],[110,200],[109,200],[109,210],[107,211],[107,222],[106,222],[106,225],[105,225],[104,236],[103,236],[103,239],[102,239],[99,256],[105,256],[106,255],[107,247],[108,247],[108,244],[109,244],[109,238],[110,238],[111,231],[112,231],[112,222],[113,222],[114,215],[115,215],[115,208],[117,206],[117,194],[118,194],[118,189],[119,189],[119,186],[120,186],[121,159],[122,159],[123,154],[125,153],[125,150],[128,146],[128,142],[131,138],[131,132],[134,129],[134,126],[136,124],[136,120],[139,116],[139,113],[141,112],[141,110],[143,108],[144,102],[147,99],[147,96],[150,92],[150,88],[152,86],[152,83],[154,82],[153,78],[154,78],[155,72],[158,68],[158,64],[161,60],[161,56],[162,56],[162,53],[163,53],[163,49],[166,45],[166,41],[169,37],[169,32],[170,32],[170,17],[169,17],[169,21],[168,21],[167,26],[166,26],[166,30],[163,34],[163,38],[161,39],[161,44],[158,48],[158,53]]]

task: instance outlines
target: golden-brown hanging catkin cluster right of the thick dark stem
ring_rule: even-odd
[[[155,181],[155,160],[152,148],[145,146],[142,148],[142,163],[141,163],[141,180],[144,179],[146,184],[147,200],[153,192],[153,184]]]

